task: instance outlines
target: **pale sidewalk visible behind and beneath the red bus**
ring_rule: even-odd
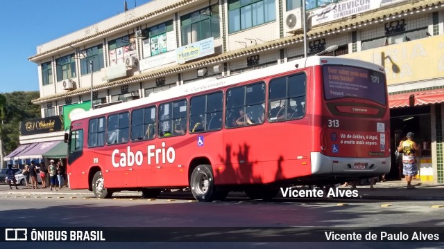
[[[357,190],[359,192],[360,199],[366,200],[411,200],[411,201],[444,201],[444,184],[430,184],[420,183],[420,181],[412,181],[412,184],[416,186],[415,189],[408,190],[407,183],[402,181],[386,181],[384,183],[376,183],[376,190],[370,190],[369,185],[358,185]],[[6,184],[0,185],[0,196],[15,195],[15,196],[38,196],[38,195],[73,195],[81,197],[94,197],[94,194],[89,190],[70,190],[68,187],[63,187],[62,190],[49,190],[49,188],[39,188],[33,190],[32,187],[18,186],[19,190],[15,190],[12,186],[12,190]],[[341,190],[348,189],[350,187],[340,187]],[[191,192],[173,192],[167,193],[168,195],[180,195],[190,198]],[[142,192],[137,191],[123,191],[116,192],[113,196],[142,196]],[[230,196],[244,196],[243,193],[234,192]]]

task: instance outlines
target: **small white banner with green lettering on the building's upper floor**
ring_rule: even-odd
[[[190,61],[191,59],[198,59],[207,55],[214,54],[214,37],[203,39],[199,42],[181,46],[176,49],[177,62],[179,64]]]

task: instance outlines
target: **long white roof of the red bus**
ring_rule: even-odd
[[[303,66],[304,64],[305,66]],[[382,66],[370,62],[364,62],[358,59],[349,59],[349,58],[331,57],[331,56],[311,56],[307,58],[296,59],[291,62],[286,62],[275,66],[260,68],[260,70],[253,70],[253,71],[248,71],[246,73],[239,73],[219,78],[209,77],[203,80],[198,80],[196,82],[182,84],[180,86],[173,86],[171,89],[168,90],[151,93],[150,95],[148,95],[147,98],[139,98],[137,100],[133,100],[130,102],[123,102],[120,104],[114,104],[100,109],[94,109],[94,110],[85,111],[83,113],[78,113],[73,117],[71,117],[71,121],[80,120],[83,118],[95,117],[95,116],[103,116],[105,114],[114,113],[116,111],[133,109],[135,107],[142,107],[156,102],[180,98],[182,96],[194,93],[200,93],[212,89],[220,89],[225,86],[237,84],[239,82],[250,82],[250,81],[254,82],[255,80],[260,80],[264,77],[268,77],[271,75],[279,75],[281,73],[294,71],[296,69],[307,68],[310,66],[317,66],[321,64],[322,65],[341,64],[348,66],[359,66],[363,68],[369,68],[375,71],[379,70],[381,73],[384,73],[384,68]]]

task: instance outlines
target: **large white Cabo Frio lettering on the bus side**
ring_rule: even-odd
[[[134,165],[144,165],[144,154],[142,151],[131,151],[130,146],[126,150],[114,149],[112,151],[111,160],[113,167],[131,167]],[[176,160],[176,151],[173,147],[166,147],[165,142],[162,142],[161,148],[156,148],[155,145],[148,145],[146,147],[146,164],[165,164],[174,163]]]

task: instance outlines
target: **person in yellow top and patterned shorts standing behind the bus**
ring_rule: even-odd
[[[401,141],[398,147],[398,152],[402,152],[402,174],[407,181],[407,188],[413,189],[415,186],[411,185],[411,179],[418,174],[418,167],[416,163],[417,156],[420,156],[421,148],[413,141],[415,133],[407,133],[407,140]]]

